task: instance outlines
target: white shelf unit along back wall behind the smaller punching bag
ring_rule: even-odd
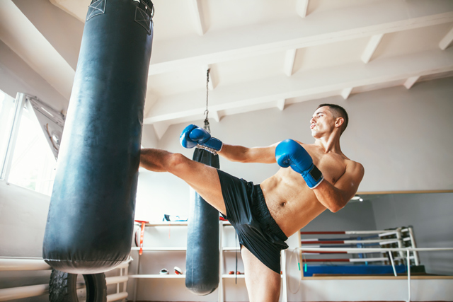
[[[141,224],[136,224],[137,226],[141,226]],[[167,226],[167,227],[176,227],[176,226],[183,226],[187,227],[188,223],[186,221],[164,221],[158,223],[146,223],[145,228],[148,227],[159,227],[159,226]],[[224,252],[234,251],[240,252],[239,246],[223,246],[223,238],[224,238],[224,228],[231,227],[231,223],[229,221],[219,221],[219,302],[224,302],[224,279],[244,279],[245,276],[243,274],[224,274]],[[133,247],[132,251],[140,250],[139,247]],[[187,248],[183,247],[143,247],[143,252],[174,252],[174,251],[186,251]],[[287,285],[286,285],[286,257],[285,257],[285,250],[282,251],[282,296],[280,301],[287,302]],[[185,274],[178,275],[178,274],[140,274],[140,255],[137,257],[137,274],[130,274],[128,277],[130,279],[185,279]],[[137,281],[134,284],[134,294],[133,294],[133,301],[137,301]]]

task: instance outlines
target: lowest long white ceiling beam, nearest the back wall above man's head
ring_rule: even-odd
[[[355,62],[300,72],[291,77],[281,74],[217,87],[210,93],[210,110],[238,113],[241,110],[250,111],[251,108],[275,108],[275,100],[280,100],[280,103],[277,101],[277,107],[280,109],[281,100],[288,103],[287,100],[291,99],[294,103],[314,99],[316,95],[338,95],[338,91],[346,88],[415,79],[418,76],[446,71],[453,71],[453,49],[381,59],[379,62],[370,62],[365,69],[362,62]],[[200,100],[203,95],[205,90],[166,95],[154,103],[144,123],[171,121],[171,124],[177,124],[190,118],[202,118],[205,108],[194,107],[190,100]]]

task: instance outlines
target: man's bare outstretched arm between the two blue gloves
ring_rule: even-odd
[[[275,163],[275,146],[247,148],[224,144],[219,155],[229,161],[239,161],[241,163]]]

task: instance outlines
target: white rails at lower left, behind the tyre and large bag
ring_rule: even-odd
[[[120,269],[120,276],[105,277],[105,284],[117,284],[116,293],[107,295],[107,302],[118,301],[127,298],[127,269],[129,262],[127,260],[115,267]],[[40,258],[7,258],[0,257],[0,272],[10,271],[36,271],[50,270],[52,267]],[[120,284],[123,284],[123,291],[120,292]],[[77,289],[84,289],[84,282],[77,284]],[[20,298],[29,298],[49,294],[49,284],[38,284],[30,286],[11,287],[8,289],[0,289],[0,301],[9,301]]]

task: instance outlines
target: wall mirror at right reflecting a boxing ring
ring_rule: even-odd
[[[407,275],[406,251],[379,249],[453,248],[452,216],[453,192],[357,194],[301,230],[302,248],[355,250],[302,252],[304,277]],[[413,275],[453,275],[453,250],[410,252],[409,261]]]

